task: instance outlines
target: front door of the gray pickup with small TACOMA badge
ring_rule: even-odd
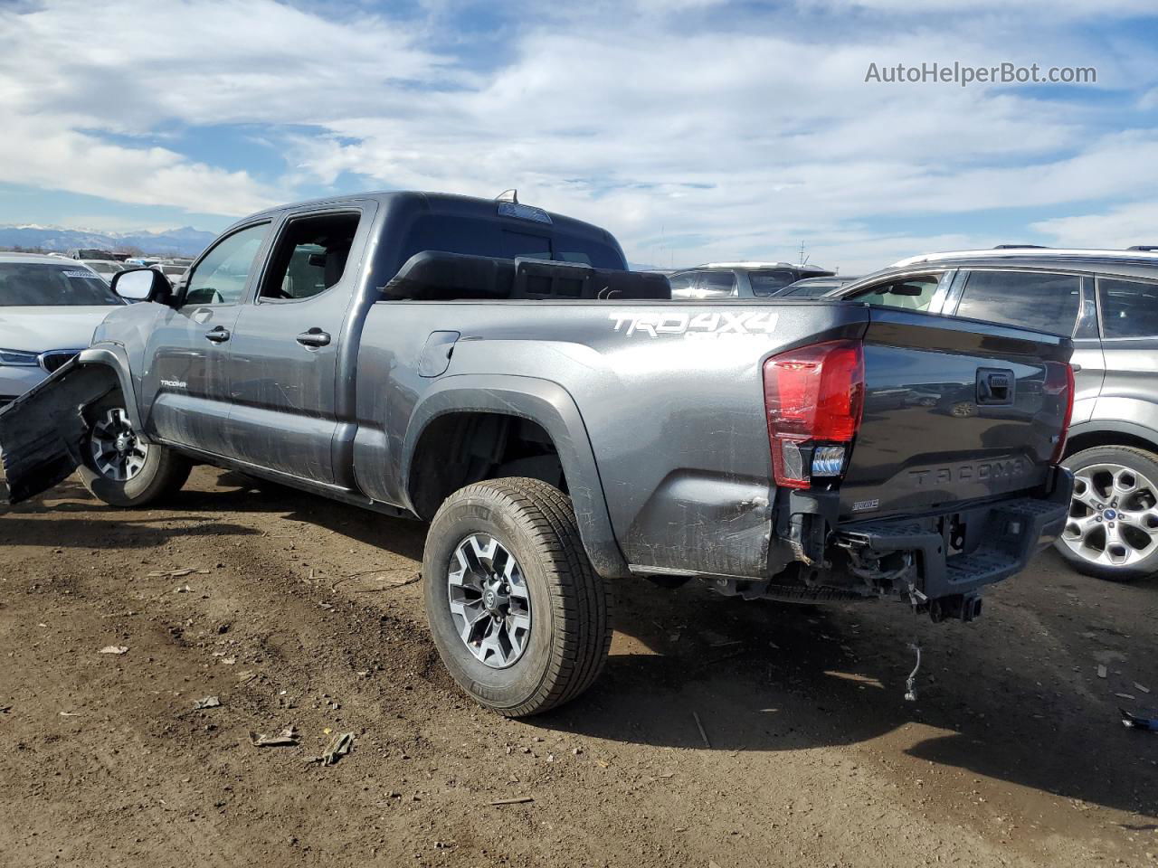
[[[181,304],[156,321],[141,377],[147,434],[227,454],[229,346],[269,233],[265,221],[219,240],[190,269]]]

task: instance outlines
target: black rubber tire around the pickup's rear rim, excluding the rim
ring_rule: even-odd
[[[447,576],[474,534],[499,540],[519,562],[532,627],[506,669],[477,660],[455,628]],[[423,556],[426,617],[452,677],[477,703],[510,718],[555,708],[589,687],[611,643],[610,594],[584,551],[571,499],[537,479],[493,479],[444,501]]]

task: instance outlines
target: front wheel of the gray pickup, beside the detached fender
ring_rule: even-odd
[[[171,449],[144,441],[129,425],[124,405],[120,393],[113,392],[86,412],[89,431],[76,473],[97,500],[115,507],[141,507],[179,491],[192,463]],[[125,450],[102,456],[94,449],[95,443],[109,444],[117,437],[125,440]]]

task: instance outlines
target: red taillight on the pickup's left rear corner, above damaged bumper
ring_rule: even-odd
[[[764,409],[776,484],[807,488],[804,443],[850,443],[864,409],[865,359],[858,340],[790,350],[764,362]]]

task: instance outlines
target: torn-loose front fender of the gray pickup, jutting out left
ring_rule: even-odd
[[[85,409],[111,391],[140,431],[127,366],[112,347],[89,347],[0,410],[0,457],[7,486],[0,500],[20,503],[68,478],[81,463]]]

